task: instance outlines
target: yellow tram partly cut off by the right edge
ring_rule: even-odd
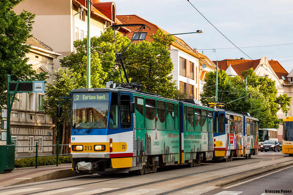
[[[283,122],[282,154],[293,156],[293,116],[287,116]]]

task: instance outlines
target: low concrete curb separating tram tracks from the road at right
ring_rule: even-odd
[[[291,162],[291,163],[284,163],[283,165],[277,165],[277,166],[274,166],[273,168],[265,168],[264,170],[261,170],[261,171],[257,171],[257,172],[254,172],[254,173],[250,173],[250,174],[247,174],[247,175],[243,175],[241,177],[237,177],[237,178],[234,178],[234,179],[231,179],[231,180],[227,180],[227,181],[224,181],[224,182],[219,182],[215,186],[222,187],[222,186],[225,186],[225,185],[234,183],[234,182],[239,182],[239,181],[244,180],[244,179],[247,179],[249,177],[253,177],[253,176],[256,176],[256,175],[260,175],[260,174],[263,174],[263,173],[266,173],[266,172],[270,172],[270,171],[273,171],[273,170],[276,170],[276,169],[280,169],[280,168],[283,168],[283,167],[287,167],[287,166],[290,166],[290,165],[293,165],[293,162]]]

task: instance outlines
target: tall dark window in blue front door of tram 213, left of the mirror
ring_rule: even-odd
[[[122,129],[130,128],[130,113],[129,113],[129,95],[120,96],[120,123]]]

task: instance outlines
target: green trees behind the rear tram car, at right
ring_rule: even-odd
[[[204,89],[201,95],[201,102],[215,101],[215,76],[216,72],[208,72],[204,80]],[[227,109],[234,112],[248,112],[251,116],[259,119],[260,128],[278,128],[282,119],[277,116],[280,109],[288,112],[291,97],[287,94],[276,96],[277,89],[275,81],[268,77],[257,77],[254,70],[243,71],[241,75],[247,78],[247,92],[245,91],[245,80],[241,77],[229,77],[224,71],[218,73],[218,101],[230,102],[243,96],[252,94],[252,99],[248,97],[239,99],[227,104]]]

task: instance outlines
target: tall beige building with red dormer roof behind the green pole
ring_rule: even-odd
[[[62,56],[74,52],[73,41],[87,37],[87,4],[84,0],[25,0],[14,11],[19,14],[27,10],[35,14],[35,23],[31,34],[54,48]],[[92,0],[90,36],[98,37],[112,24],[121,24],[116,19],[114,2],[101,3]],[[130,32],[121,27],[121,33]],[[54,70],[60,68],[59,59],[54,60]]]

